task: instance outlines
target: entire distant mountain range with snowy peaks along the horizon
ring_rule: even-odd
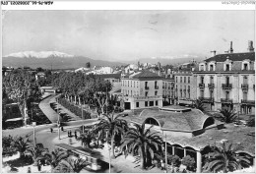
[[[138,61],[141,63],[152,63],[157,64],[160,62],[161,65],[166,64],[181,64],[186,63],[191,60],[200,61],[202,59],[185,57],[185,58],[174,58],[174,59],[164,59],[164,58],[143,58],[139,60],[127,60],[122,62],[111,62],[105,60],[96,60],[85,56],[75,56],[66,54],[58,51],[25,51],[6,55],[2,59],[2,65],[6,67],[31,67],[37,68],[41,67],[43,69],[76,69],[80,67],[86,67],[87,62],[91,63],[91,66],[121,66],[127,64],[137,64]]]

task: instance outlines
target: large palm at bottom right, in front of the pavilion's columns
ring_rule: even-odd
[[[240,169],[242,165],[249,166],[250,160],[247,156],[238,155],[237,151],[243,149],[242,146],[233,147],[232,144],[222,144],[222,146],[212,146],[213,152],[206,154],[208,162],[204,165],[206,172],[224,173]]]

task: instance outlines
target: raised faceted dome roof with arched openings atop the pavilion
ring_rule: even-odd
[[[131,117],[131,121],[143,124],[146,119],[154,118],[160,124],[161,130],[193,132],[203,129],[205,121],[210,118],[198,109],[180,106],[163,108],[162,110],[145,109],[139,117]],[[215,124],[220,122],[215,120]]]

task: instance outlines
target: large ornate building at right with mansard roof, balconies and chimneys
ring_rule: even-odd
[[[241,114],[255,113],[255,52],[214,55],[200,63],[194,72],[196,96],[209,110],[231,108]],[[215,52],[214,52],[215,53]]]

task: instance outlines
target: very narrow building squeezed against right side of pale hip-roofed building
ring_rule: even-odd
[[[174,103],[174,77],[165,75],[162,79],[162,104],[169,105]]]

